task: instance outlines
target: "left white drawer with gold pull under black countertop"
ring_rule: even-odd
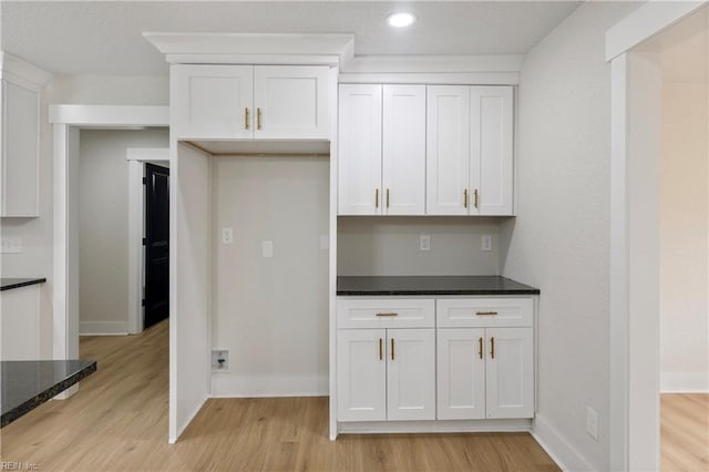
[[[433,299],[338,298],[337,327],[433,328]]]

